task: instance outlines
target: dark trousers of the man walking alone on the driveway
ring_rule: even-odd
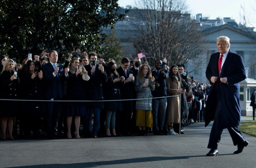
[[[216,111],[215,111],[215,118],[213,122],[213,127],[211,128],[209,143],[207,148],[209,149],[218,149],[219,141],[221,141],[221,134],[223,129],[220,127],[220,117],[221,117],[221,101],[218,100]],[[238,127],[230,127],[227,128],[229,134],[232,138],[233,144],[242,144],[245,142],[241,132],[239,131]]]

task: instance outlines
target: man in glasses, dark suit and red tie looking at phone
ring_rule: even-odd
[[[121,99],[134,99],[134,76],[129,77],[129,74],[133,74],[133,71],[128,69],[130,65],[130,60],[126,57],[122,58],[121,60],[121,66],[117,68],[117,72],[119,73],[119,76],[125,77],[125,84],[121,86],[120,88],[120,95]],[[124,115],[120,116],[120,123],[124,123],[124,135],[131,136],[131,116],[134,112],[134,103],[132,100],[129,101],[122,101],[122,114]],[[117,114],[120,115],[120,114]],[[124,119],[124,120],[122,120]],[[123,121],[123,122],[122,122]],[[117,126],[118,123],[117,123]],[[119,128],[118,128],[119,129]],[[117,132],[120,134],[120,130],[116,129]]]

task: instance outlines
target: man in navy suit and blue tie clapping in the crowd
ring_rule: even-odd
[[[69,68],[63,70],[63,66],[57,64],[57,61],[58,52],[53,50],[49,53],[49,62],[42,66],[46,100],[62,99],[63,82],[68,77]],[[47,102],[46,106],[46,134],[49,138],[55,138],[60,102]]]

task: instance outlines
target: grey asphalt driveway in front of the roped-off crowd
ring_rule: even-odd
[[[251,120],[252,117],[242,117]],[[246,167],[256,168],[256,137],[243,134],[249,145],[240,154],[227,129],[219,156],[206,157],[212,122],[185,127],[185,134],[55,140],[0,141],[0,167]]]

